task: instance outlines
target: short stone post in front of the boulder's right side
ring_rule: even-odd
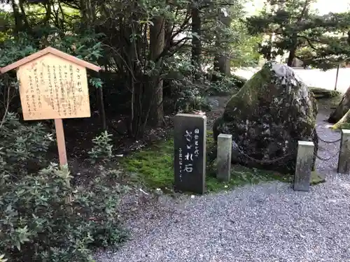
[[[314,143],[297,142],[297,163],[295,166],[294,190],[309,191],[312,162],[314,161]]]

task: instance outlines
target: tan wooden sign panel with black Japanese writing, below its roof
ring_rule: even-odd
[[[20,66],[17,75],[25,120],[90,117],[85,67],[48,53]]]

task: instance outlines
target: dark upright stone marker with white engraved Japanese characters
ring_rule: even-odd
[[[177,114],[174,118],[174,182],[180,191],[203,194],[207,117]]]

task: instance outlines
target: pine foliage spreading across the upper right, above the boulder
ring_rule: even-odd
[[[327,63],[325,58],[328,52],[328,58],[332,58],[336,52],[337,34],[348,31],[349,15],[317,15],[311,10],[313,2],[267,0],[260,15],[247,19],[251,34],[274,36],[273,40],[270,38],[260,45],[260,53],[265,58],[274,59],[289,52],[292,59],[300,58],[307,65],[327,68],[327,64],[332,64]],[[332,48],[328,45],[332,45]]]

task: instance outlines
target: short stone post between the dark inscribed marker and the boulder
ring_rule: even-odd
[[[221,133],[218,136],[217,150],[217,173],[216,178],[223,182],[230,181],[231,175],[231,154],[232,154],[232,135]]]

